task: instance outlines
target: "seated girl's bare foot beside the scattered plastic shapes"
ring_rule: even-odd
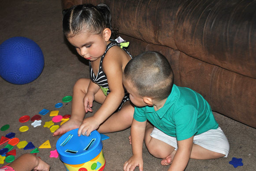
[[[61,125],[59,127],[59,129],[57,129],[52,136],[60,136],[65,134],[66,132],[76,129],[78,127],[80,127],[82,121],[78,121],[78,120],[68,120],[66,123],[64,123],[63,125]]]

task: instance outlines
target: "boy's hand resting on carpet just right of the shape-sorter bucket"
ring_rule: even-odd
[[[134,171],[136,167],[139,167],[140,171],[143,171],[143,159],[140,156],[133,155],[123,165],[124,171]]]

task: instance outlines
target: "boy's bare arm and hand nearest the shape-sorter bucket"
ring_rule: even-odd
[[[143,159],[142,159],[142,146],[145,135],[147,121],[138,122],[133,120],[131,126],[131,142],[133,149],[133,156],[125,162],[123,166],[124,171],[134,171],[135,167],[139,167],[140,171],[143,171]]]

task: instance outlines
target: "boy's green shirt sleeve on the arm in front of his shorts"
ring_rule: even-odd
[[[178,141],[192,137],[197,133],[197,109],[186,105],[174,114],[174,124]]]

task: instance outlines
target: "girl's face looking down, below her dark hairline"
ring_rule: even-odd
[[[90,61],[100,58],[108,44],[103,34],[81,33],[74,37],[67,37],[67,40],[76,48],[79,55]]]

